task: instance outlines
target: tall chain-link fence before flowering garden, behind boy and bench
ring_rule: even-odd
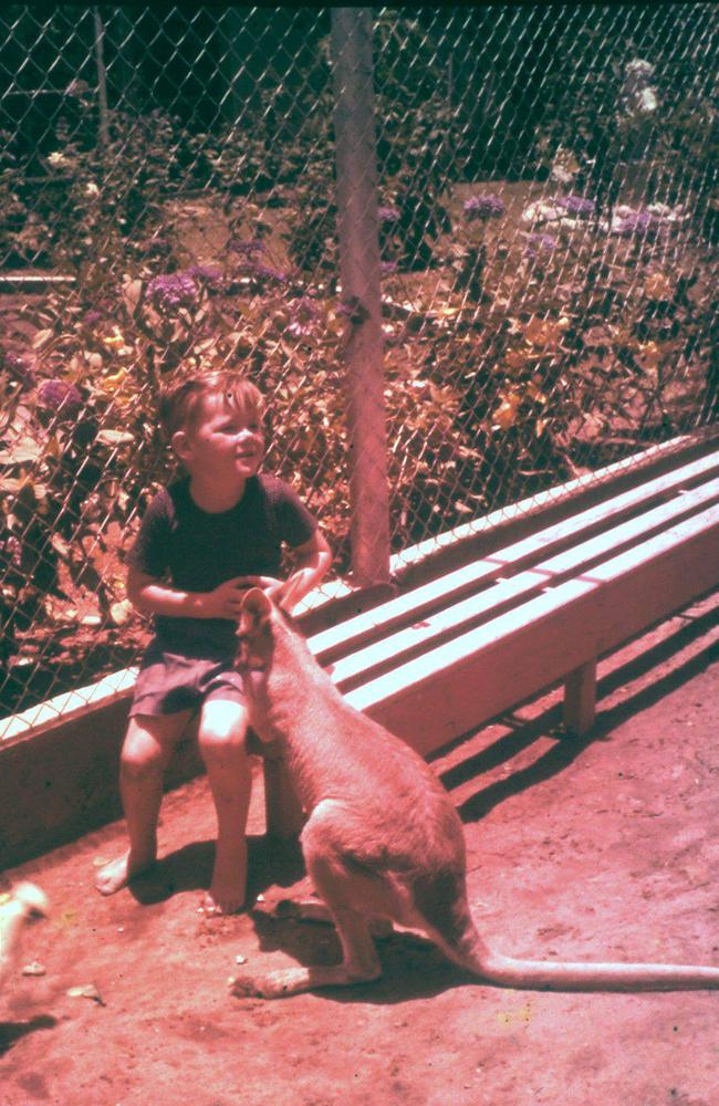
[[[706,3],[7,4],[2,713],[136,659],[188,368],[260,385],[340,573],[713,420],[718,41]]]

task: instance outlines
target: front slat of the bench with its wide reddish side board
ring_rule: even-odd
[[[668,616],[718,578],[719,520],[711,510],[346,698],[427,753]]]

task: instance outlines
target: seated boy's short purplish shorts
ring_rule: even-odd
[[[131,718],[195,711],[208,699],[244,706],[242,678],[232,661],[227,655],[208,658],[168,653],[157,639],[150,641],[137,674]]]

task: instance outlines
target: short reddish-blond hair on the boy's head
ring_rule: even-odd
[[[194,373],[163,388],[159,424],[168,439],[178,430],[190,429],[206,399],[221,398],[230,410],[247,413],[261,421],[264,397],[259,388],[233,368]]]

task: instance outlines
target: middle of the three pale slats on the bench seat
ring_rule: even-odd
[[[332,678],[343,691],[351,690],[382,671],[396,669],[398,662],[409,660],[421,650],[463,633],[492,612],[499,614],[508,604],[527,601],[548,584],[555,584],[569,574],[575,576],[598,557],[618,553],[627,544],[644,541],[657,530],[673,525],[691,512],[700,511],[708,503],[717,501],[719,478],[340,658],[332,666]]]

